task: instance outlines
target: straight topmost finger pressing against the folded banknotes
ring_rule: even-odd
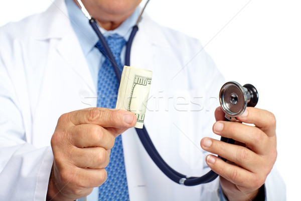
[[[136,116],[128,111],[88,108],[64,114],[59,121],[71,121],[74,125],[96,124],[102,127],[131,128],[136,124]]]

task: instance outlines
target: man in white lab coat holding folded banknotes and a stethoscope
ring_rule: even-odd
[[[127,40],[140,1],[82,2],[105,36]],[[248,108],[239,120],[251,127],[221,121],[217,109],[213,125],[212,100],[224,80],[197,40],[145,16],[131,51],[131,65],[154,72],[145,126],[163,158],[186,174],[200,176],[211,168],[220,175],[194,187],[170,181],[156,167],[131,129],[134,115],[95,108],[105,59],[97,41],[72,0],[57,0],[46,12],[1,28],[2,199],[75,200],[90,194],[88,200],[98,200],[114,139],[123,133],[130,200],[285,200],[273,168],[274,116]],[[120,58],[123,63],[124,47]],[[212,130],[241,143],[219,142]],[[206,157],[206,151],[233,163]]]

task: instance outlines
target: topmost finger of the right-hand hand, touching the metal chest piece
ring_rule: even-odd
[[[276,135],[276,119],[275,116],[266,111],[258,108],[248,107],[244,114],[237,117],[241,122],[254,124],[260,128],[268,137]]]

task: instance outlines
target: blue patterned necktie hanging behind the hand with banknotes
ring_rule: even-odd
[[[118,64],[120,71],[123,66],[120,61],[120,52],[125,44],[124,38],[114,34],[105,37],[108,46]],[[96,44],[100,52],[104,52],[100,42]],[[118,81],[112,64],[107,56],[98,72],[97,107],[115,108],[118,92]],[[114,147],[111,149],[110,162],[105,168],[108,173],[107,180],[99,186],[99,201],[129,200],[125,174],[121,135],[116,137]]]

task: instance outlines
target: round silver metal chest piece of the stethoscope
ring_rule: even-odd
[[[240,85],[235,81],[225,83],[219,94],[222,110],[226,118],[236,121],[247,107],[255,107],[258,102],[258,92],[252,84]]]

